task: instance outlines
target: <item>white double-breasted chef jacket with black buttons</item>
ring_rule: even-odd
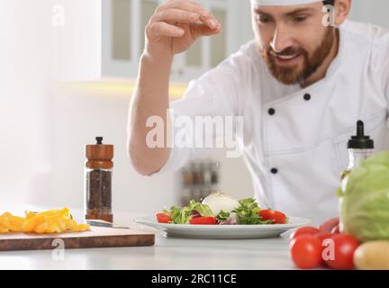
[[[243,116],[240,143],[261,208],[319,223],[339,214],[336,189],[357,121],[365,121],[375,151],[389,148],[389,31],[341,25],[339,54],[327,75],[304,88],[277,82],[252,40],[192,81],[170,107],[176,115]],[[158,173],[204,152],[172,148]]]

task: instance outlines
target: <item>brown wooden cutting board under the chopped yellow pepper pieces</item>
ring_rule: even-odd
[[[0,234],[0,251],[41,250],[59,247],[62,239],[65,248],[132,247],[154,245],[155,235],[139,229],[113,229],[91,227],[91,231],[61,234]]]

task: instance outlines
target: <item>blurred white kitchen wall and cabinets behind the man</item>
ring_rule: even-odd
[[[130,166],[127,111],[144,26],[162,2],[0,2],[0,211],[10,202],[81,208],[85,145],[95,143],[95,136],[115,149],[113,212],[150,213],[213,190],[253,195],[243,161],[225,158],[222,150],[173,174],[146,177]],[[199,2],[216,15],[223,32],[176,57],[172,100],[253,37],[249,0]],[[386,11],[387,0],[354,0],[350,18],[389,28]]]

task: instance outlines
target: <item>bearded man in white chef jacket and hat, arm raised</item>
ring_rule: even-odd
[[[255,39],[169,103],[174,56],[222,26],[195,2],[161,4],[146,28],[131,100],[132,166],[156,175],[203,156],[201,148],[149,148],[149,117],[242,116],[239,140],[259,205],[314,223],[338,215],[335,192],[356,122],[365,122],[375,151],[389,148],[389,31],[347,20],[350,6],[251,0]]]

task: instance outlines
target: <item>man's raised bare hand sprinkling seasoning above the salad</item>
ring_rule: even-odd
[[[222,31],[222,25],[201,4],[169,0],[158,6],[146,26],[145,52],[153,58],[168,58],[184,52],[201,36]]]

